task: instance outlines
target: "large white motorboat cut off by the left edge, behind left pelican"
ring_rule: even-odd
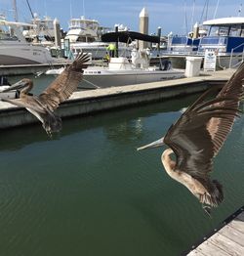
[[[0,20],[0,64],[52,64],[58,60],[41,45],[27,43],[21,28],[31,24]]]

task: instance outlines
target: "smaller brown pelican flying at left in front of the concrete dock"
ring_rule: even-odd
[[[89,61],[87,54],[80,54],[72,64],[65,67],[61,74],[39,96],[29,95],[33,87],[30,79],[24,78],[5,91],[20,90],[20,99],[2,101],[19,107],[25,107],[41,122],[49,136],[61,131],[61,117],[54,113],[55,109],[70,97],[83,77],[82,68]]]

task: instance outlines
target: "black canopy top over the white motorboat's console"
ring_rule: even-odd
[[[131,43],[134,40],[142,40],[151,43],[159,43],[158,36],[142,34],[134,31],[119,31],[102,34],[102,42]]]

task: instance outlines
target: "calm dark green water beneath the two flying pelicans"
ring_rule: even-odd
[[[244,116],[215,160],[224,203],[208,218],[165,173],[158,139],[195,96],[0,133],[0,255],[180,255],[243,205]]]

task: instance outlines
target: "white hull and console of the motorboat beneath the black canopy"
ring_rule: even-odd
[[[46,74],[60,74],[63,68],[51,69]],[[145,51],[132,51],[132,58],[111,58],[108,66],[89,66],[84,69],[81,89],[96,89],[114,86],[149,83],[182,78],[183,70],[172,69],[164,64],[160,69],[149,66],[149,55]]]

